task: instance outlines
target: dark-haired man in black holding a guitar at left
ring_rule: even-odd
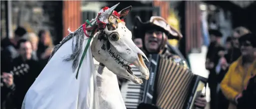
[[[12,98],[15,108],[21,109],[27,90],[42,69],[38,61],[32,58],[32,45],[28,40],[20,39],[17,42],[17,49],[20,55],[13,59],[11,67],[13,69],[9,71],[13,75],[13,84],[15,84],[10,98]]]

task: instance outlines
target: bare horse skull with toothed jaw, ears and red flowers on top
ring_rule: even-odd
[[[126,78],[136,84],[141,84],[142,80],[131,72],[130,64],[135,65],[142,74],[142,78],[149,78],[149,71],[144,64],[142,56],[145,54],[133,43],[131,32],[126,28],[123,18],[130,12],[128,6],[118,13],[111,8],[104,7],[96,18],[98,25],[102,25],[101,30],[91,43],[91,52],[95,60],[103,64],[114,74]]]

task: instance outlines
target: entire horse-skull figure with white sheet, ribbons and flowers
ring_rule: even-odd
[[[132,42],[131,32],[122,20],[131,6],[116,12],[117,5],[102,8],[96,18],[69,31],[54,47],[48,63],[27,91],[21,109],[125,108],[114,74],[141,84],[128,65],[138,67],[145,79],[149,71],[142,59],[146,56]],[[96,67],[99,65],[93,58],[100,67]]]

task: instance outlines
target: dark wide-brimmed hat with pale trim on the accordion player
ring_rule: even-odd
[[[158,29],[164,32],[168,39],[181,39],[182,34],[170,26],[166,20],[164,20],[160,16],[151,16],[149,21],[142,22],[139,16],[136,16],[136,20],[138,21],[138,27],[140,32],[144,32],[148,29]]]

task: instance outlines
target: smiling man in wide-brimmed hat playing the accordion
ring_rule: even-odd
[[[167,24],[167,22],[160,16],[151,16],[147,22],[142,22],[137,16],[139,25],[136,27],[139,33],[135,33],[136,38],[142,39],[142,51],[148,56],[149,54],[162,54],[168,58],[174,59],[175,62],[180,65],[187,66],[184,59],[172,53],[179,54],[177,51],[170,51],[167,48],[168,38],[179,39],[182,35],[173,27]],[[139,44],[140,45],[140,44]],[[153,97],[154,98],[154,97]],[[168,103],[166,103],[168,104]],[[198,97],[195,100],[195,106],[204,109],[206,100],[204,97]],[[152,104],[139,104],[137,109],[160,109]]]

